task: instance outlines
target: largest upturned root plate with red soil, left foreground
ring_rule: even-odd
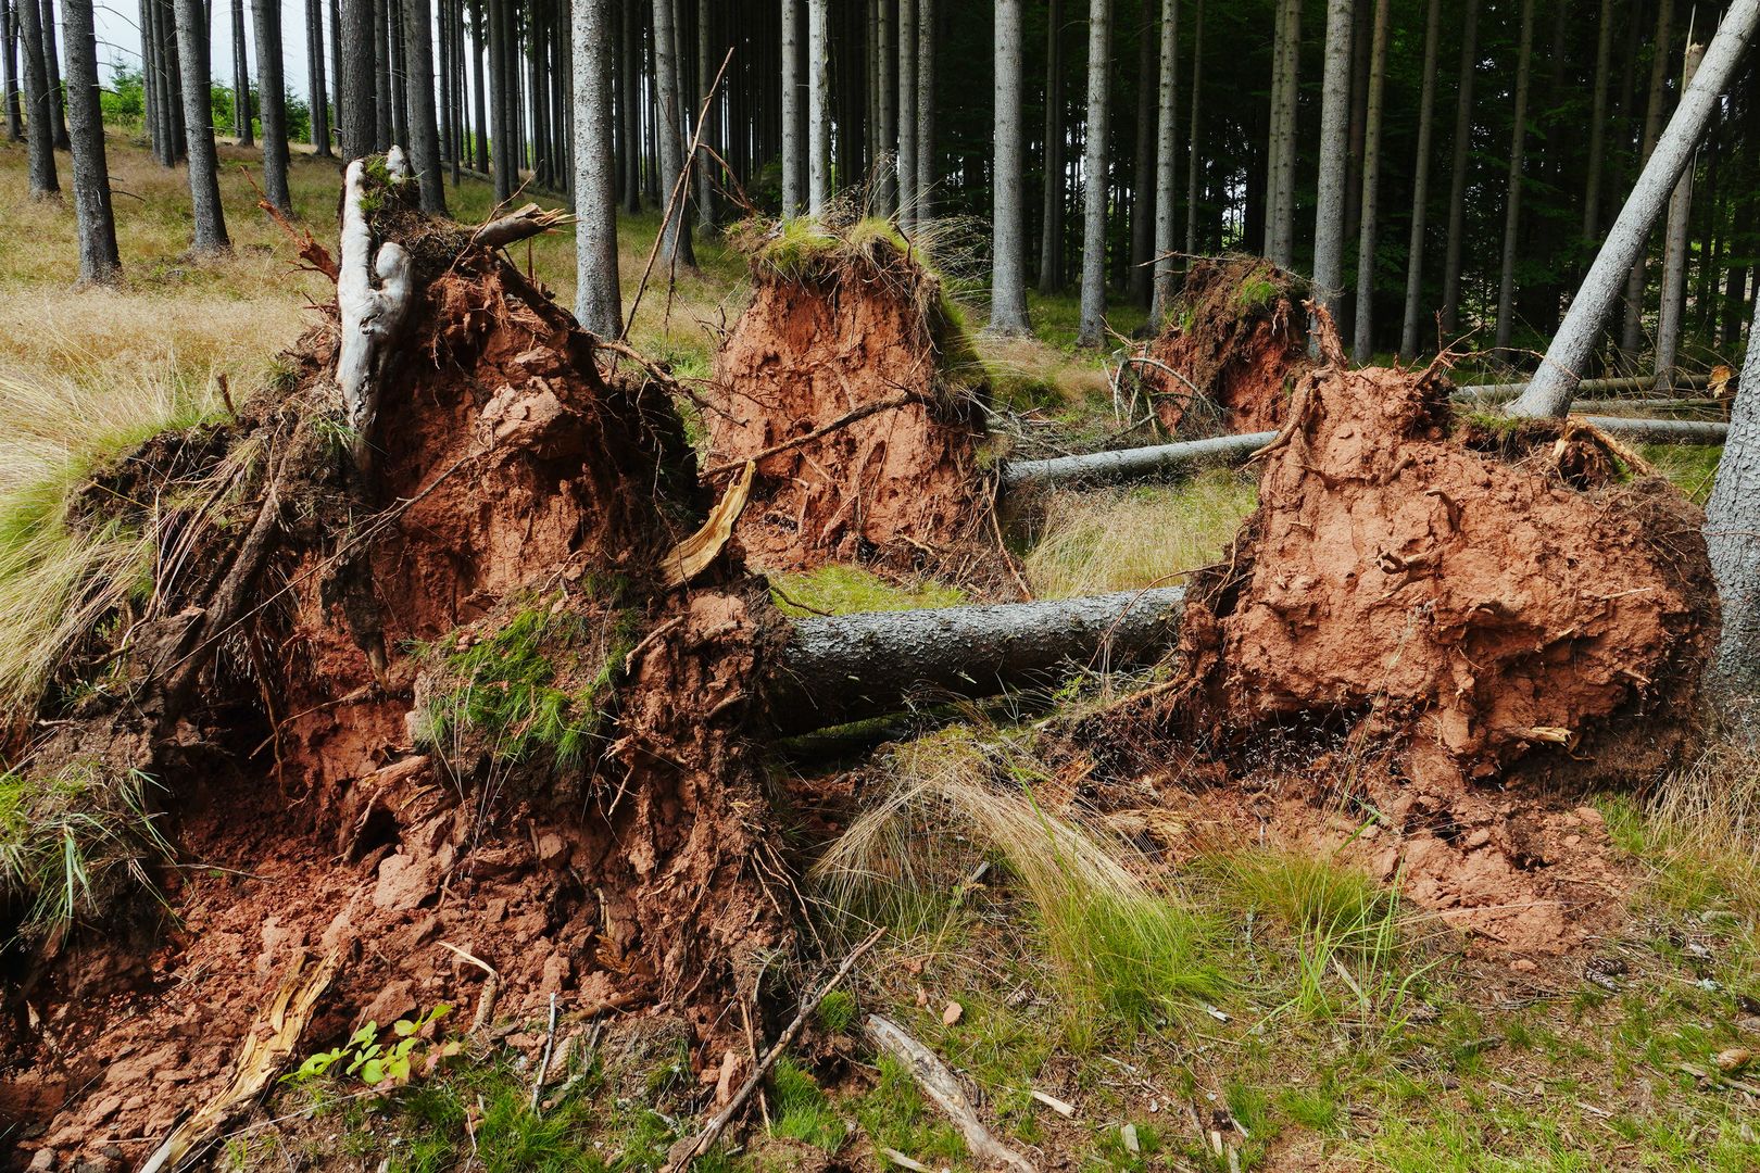
[[[778,619],[727,557],[660,579],[693,528],[671,389],[607,369],[505,259],[385,195],[419,308],[370,473],[334,311],[243,419],[106,473],[167,501],[216,484],[218,505],[158,531],[162,601],[123,651],[81,652],[120,654],[128,686],[58,712],[23,769],[144,770],[180,863],[155,872],[162,907],[137,893],[104,932],[5,957],[19,1159],[137,1162],[227,1085],[304,957],[340,960],[308,1050],[436,1002],[493,1029],[560,994],[563,1034],[664,1011],[718,1066],[729,999],[790,946],[741,733]]]

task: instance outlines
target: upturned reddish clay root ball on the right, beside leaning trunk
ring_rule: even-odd
[[[1570,948],[1621,906],[1584,790],[1654,779],[1697,732],[1702,515],[1584,426],[1454,438],[1445,378],[1346,369],[1325,329],[1177,677],[1132,710],[1197,747],[1151,774],[1170,805],[1348,844],[1491,943]]]

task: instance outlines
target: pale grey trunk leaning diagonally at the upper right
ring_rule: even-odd
[[[1642,259],[1649,230],[1661,215],[1681,172],[1691,164],[1693,148],[1705,134],[1718,98],[1728,88],[1735,65],[1753,39],[1756,23],[1760,23],[1760,0],[1734,0],[1730,4],[1718,26],[1718,35],[1712,37],[1711,47],[1693,76],[1693,84],[1681,95],[1667,130],[1656,141],[1656,149],[1644,164],[1632,195],[1619,209],[1619,218],[1609,229],[1607,243],[1582,280],[1582,288],[1572,299],[1565,324],[1559,325],[1552,345],[1547,346],[1545,361],[1528,390],[1517,399],[1514,408],[1517,415],[1563,415],[1570,408],[1577,380],[1595,348],[1595,338],[1619,297],[1621,278],[1632,271],[1633,262]]]

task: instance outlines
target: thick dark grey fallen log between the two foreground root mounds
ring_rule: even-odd
[[[771,677],[769,712],[778,732],[804,733],[912,703],[1042,684],[1065,663],[1137,665],[1172,647],[1183,607],[1183,587],[1156,587],[801,619]]]

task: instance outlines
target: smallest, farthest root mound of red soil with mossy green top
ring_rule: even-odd
[[[1140,368],[1169,434],[1272,431],[1313,366],[1295,278],[1258,257],[1199,260]]]

